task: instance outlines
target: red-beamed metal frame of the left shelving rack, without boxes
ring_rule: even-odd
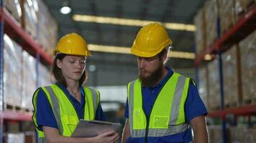
[[[3,9],[3,0],[0,0],[0,142],[3,141],[4,120],[32,121],[32,113],[4,111],[4,33],[21,45],[22,49],[35,56],[37,62],[50,65],[53,61],[52,57],[9,16]]]

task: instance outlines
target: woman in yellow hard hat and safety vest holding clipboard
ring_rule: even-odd
[[[105,120],[99,92],[82,86],[86,80],[86,57],[91,56],[85,39],[72,33],[63,36],[55,50],[52,74],[56,83],[40,87],[33,96],[33,121],[39,142],[116,142],[116,132],[97,137],[70,137],[79,119]]]

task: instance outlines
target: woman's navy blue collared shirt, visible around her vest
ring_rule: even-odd
[[[75,97],[73,97],[62,84],[57,83],[58,87],[63,90],[65,95],[70,99],[75,107],[76,112],[78,113],[79,119],[83,119],[84,109],[85,109],[85,96],[83,92],[83,87],[80,87],[81,90],[81,102],[78,102]],[[55,119],[55,116],[52,112],[52,108],[50,107],[50,103],[45,95],[45,92],[40,89],[37,96],[37,124],[40,130],[42,130],[42,126],[46,127],[54,127],[58,129],[58,124]],[[96,110],[96,120],[106,120],[104,117],[104,113],[101,108],[101,104],[99,104],[98,109]]]

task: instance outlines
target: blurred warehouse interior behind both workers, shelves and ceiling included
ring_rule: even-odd
[[[167,66],[198,82],[210,142],[256,142],[256,0],[0,0],[0,143],[35,142],[32,94],[50,84],[52,49],[74,31],[93,54],[86,85],[123,124],[138,74],[128,48],[150,21],[173,40]]]

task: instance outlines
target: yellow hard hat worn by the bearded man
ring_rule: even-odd
[[[162,25],[147,24],[140,29],[134,39],[131,52],[136,56],[152,57],[172,43],[168,32]]]

